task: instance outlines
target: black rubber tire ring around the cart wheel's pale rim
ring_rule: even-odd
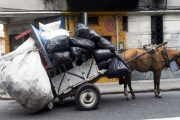
[[[85,91],[85,90],[91,90],[95,93],[96,95],[96,101],[95,103],[88,107],[88,106],[84,106],[82,105],[82,102],[81,102],[81,94]],[[79,86],[79,88],[77,89],[76,91],[76,94],[75,94],[75,100],[76,100],[76,104],[77,106],[83,110],[83,111],[88,111],[88,110],[94,110],[96,109],[98,106],[99,106],[99,103],[101,101],[101,93],[100,93],[100,90],[97,86],[91,84],[91,83],[84,83],[82,85]]]

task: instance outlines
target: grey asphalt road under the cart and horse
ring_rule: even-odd
[[[0,100],[0,120],[144,120],[155,118],[180,119],[180,91],[136,93],[136,99],[126,101],[123,94],[102,95],[97,110],[80,111],[74,99],[64,103],[54,101],[51,111],[29,114],[13,100]]]

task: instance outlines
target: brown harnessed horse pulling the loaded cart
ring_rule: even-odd
[[[160,77],[161,71],[166,67],[165,59],[162,55],[162,50],[164,48],[158,48],[155,50],[154,55],[147,53],[144,56],[141,56],[131,62],[128,63],[132,70],[137,70],[139,72],[147,72],[152,71],[154,74],[154,93],[155,97],[161,98],[160,94]],[[167,55],[169,57],[169,62],[176,61],[178,66],[180,66],[180,51],[172,50],[172,49],[164,49],[167,51]],[[126,60],[131,60],[135,56],[145,52],[144,49],[128,49],[121,56]],[[124,94],[126,99],[129,99],[127,92],[127,85],[129,86],[130,93],[132,98],[135,99],[134,91],[131,87],[131,75],[126,75],[124,77]]]

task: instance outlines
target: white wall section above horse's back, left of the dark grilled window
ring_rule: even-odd
[[[151,43],[151,16],[128,15],[127,48],[142,48]]]

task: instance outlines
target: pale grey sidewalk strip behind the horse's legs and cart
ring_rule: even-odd
[[[102,94],[115,94],[124,92],[124,87],[119,85],[118,82],[95,83],[95,85],[98,86]],[[135,93],[154,91],[153,80],[132,81],[131,86]],[[161,79],[160,88],[161,91],[180,90],[180,79]],[[11,100],[7,93],[0,94],[0,99]]]

